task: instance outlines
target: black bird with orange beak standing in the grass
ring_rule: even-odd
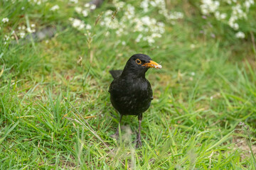
[[[127,61],[124,70],[111,70],[114,80],[110,84],[110,101],[112,106],[120,113],[119,124],[123,115],[138,115],[139,133],[137,147],[142,145],[141,123],[142,113],[146,111],[153,100],[153,91],[149,81],[145,78],[146,71],[150,68],[161,69],[161,65],[152,61],[148,55],[132,55]],[[112,135],[119,136],[119,128]]]

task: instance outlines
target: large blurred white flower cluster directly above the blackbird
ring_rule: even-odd
[[[100,21],[100,26],[105,26],[112,30],[115,30],[117,36],[128,35],[134,33],[137,35],[135,39],[136,42],[148,42],[149,45],[152,45],[155,42],[156,38],[161,38],[162,34],[165,32],[164,23],[156,21],[155,18],[146,16],[146,12],[149,11],[149,6],[158,6],[164,4],[164,1],[155,0],[155,1],[142,1],[141,7],[144,8],[142,17],[139,17],[139,13],[136,13],[134,6],[131,4],[125,4],[123,1],[114,0],[114,6],[120,12],[123,12],[124,15],[121,18],[117,18],[115,15],[116,12],[106,11]],[[161,11],[165,13],[165,11]],[[173,13],[169,15],[169,19],[182,18],[183,14]],[[139,34],[137,34],[139,33]]]

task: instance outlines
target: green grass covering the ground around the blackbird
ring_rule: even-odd
[[[87,21],[93,25],[97,13],[111,8],[108,3]],[[11,8],[11,2],[0,2],[0,12],[11,20],[6,27],[1,23],[1,40],[26,23],[26,17],[18,18],[22,6],[30,22],[57,29],[41,42],[0,42],[0,169],[256,169],[256,54],[250,38],[201,35],[204,21],[187,15],[174,26],[166,23],[166,33],[153,46],[111,30],[105,37],[107,28],[94,26],[89,47],[68,22],[75,13],[57,4],[64,10],[48,13],[46,4]],[[135,53],[163,67],[146,75],[154,101],[143,115],[139,149],[133,143],[136,117],[123,118],[119,140],[110,137],[119,114],[107,92],[108,71],[122,69]]]

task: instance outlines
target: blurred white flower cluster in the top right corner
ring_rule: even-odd
[[[247,19],[247,13],[250,10],[250,6],[255,4],[254,0],[245,0],[243,3],[237,0],[225,0],[222,3],[226,3],[225,8],[221,10],[223,6],[220,5],[220,1],[213,0],[201,0],[201,12],[203,15],[213,13],[218,21],[222,21],[228,24],[230,28],[234,30],[239,29],[238,20]],[[230,17],[227,18],[227,13],[220,13],[220,11],[232,11]],[[235,35],[237,38],[245,38],[245,34],[241,31]]]

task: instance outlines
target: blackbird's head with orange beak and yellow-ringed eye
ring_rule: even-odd
[[[161,65],[151,60],[148,55],[132,55],[127,61],[122,74],[133,74],[140,77],[144,76],[149,68],[161,69]]]

